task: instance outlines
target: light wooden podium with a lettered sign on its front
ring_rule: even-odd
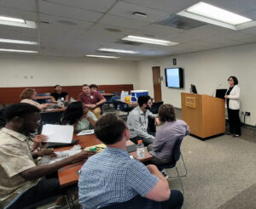
[[[197,93],[181,93],[182,116],[190,133],[206,139],[225,133],[225,101]]]

